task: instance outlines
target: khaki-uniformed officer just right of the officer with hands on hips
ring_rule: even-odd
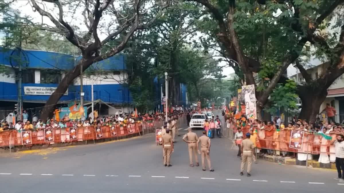
[[[198,150],[198,154],[201,154],[202,156],[202,170],[205,171],[205,163],[204,163],[204,158],[207,159],[208,162],[208,167],[210,169],[211,172],[213,172],[214,170],[212,169],[211,163],[210,163],[210,139],[208,136],[206,136],[207,131],[203,130],[202,131],[203,135],[198,138],[197,142],[196,142],[196,147]],[[201,151],[198,149],[198,144],[201,142]]]

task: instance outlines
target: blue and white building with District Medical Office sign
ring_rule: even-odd
[[[0,47],[0,65],[7,67],[7,74],[0,71],[0,120],[14,110],[18,101],[18,80],[15,70],[18,60],[22,64],[22,100],[23,109],[44,106],[49,96],[54,92],[66,72],[73,69],[80,57],[40,50],[8,50]],[[12,58],[12,60],[10,59]],[[128,79],[124,55],[116,55],[93,64],[88,70],[95,74],[83,75],[84,103],[91,101],[91,85],[94,84],[94,100],[100,99],[113,106],[101,106],[101,114],[132,111],[132,96],[126,84]],[[2,68],[0,68],[2,69]],[[59,103],[80,101],[80,78],[74,80]],[[65,105],[64,105],[65,106]],[[31,111],[31,112],[30,112]],[[29,110],[29,114],[38,113]],[[88,113],[90,110],[88,110]]]

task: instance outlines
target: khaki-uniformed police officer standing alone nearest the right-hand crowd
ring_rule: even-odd
[[[247,163],[247,177],[250,177],[250,171],[251,171],[251,166],[252,166],[252,156],[253,156],[253,152],[254,152],[254,148],[255,145],[253,144],[253,142],[250,140],[250,133],[246,134],[246,139],[244,139],[241,142],[241,168],[240,168],[240,175],[244,175],[243,171],[244,171],[244,167],[245,167],[245,163]]]

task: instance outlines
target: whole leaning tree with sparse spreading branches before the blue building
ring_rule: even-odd
[[[46,102],[41,113],[42,119],[49,117],[54,104],[73,83],[73,80],[80,75],[81,68],[84,71],[93,63],[121,52],[137,30],[148,29],[161,16],[162,11],[169,6],[169,1],[159,0],[127,0],[120,1],[120,4],[113,0],[44,0],[42,3],[30,0],[30,3],[34,11],[49,18],[54,24],[54,26],[39,24],[41,30],[64,36],[82,53],[78,64],[66,73]],[[44,3],[53,4],[54,8],[58,10],[58,18],[53,16],[53,10],[43,9],[46,7]],[[56,9],[54,10],[56,11]],[[152,10],[155,14],[152,14]],[[66,18],[72,18],[72,22],[68,23]],[[78,18],[84,18],[86,31],[80,30],[80,27],[77,26]],[[73,23],[74,20],[76,22]],[[102,36],[104,38],[101,39]],[[111,44],[109,44],[110,41],[112,41]]]

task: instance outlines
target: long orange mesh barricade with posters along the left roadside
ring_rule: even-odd
[[[0,147],[32,146],[37,144],[68,143],[73,141],[97,140],[112,137],[140,134],[141,123],[132,123],[126,126],[89,126],[69,127],[42,130],[25,130],[17,132],[10,130],[0,132]]]

